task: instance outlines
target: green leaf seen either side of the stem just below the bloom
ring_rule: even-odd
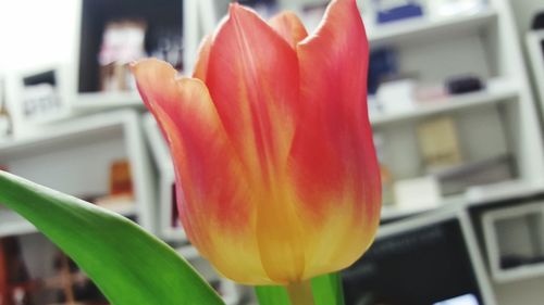
[[[311,290],[316,305],[344,305],[344,292],[338,274],[313,278]],[[290,304],[287,290],[283,287],[256,287],[255,292],[260,305],[296,305]]]

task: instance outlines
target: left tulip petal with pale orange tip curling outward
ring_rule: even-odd
[[[182,223],[193,244],[220,272],[243,283],[270,283],[255,231],[255,207],[240,163],[198,79],[178,78],[157,60],[133,65],[139,92],[174,161]]]

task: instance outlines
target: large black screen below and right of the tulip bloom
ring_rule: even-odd
[[[465,294],[483,304],[457,219],[376,240],[343,282],[346,305],[432,305]]]

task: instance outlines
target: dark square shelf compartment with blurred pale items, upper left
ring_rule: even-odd
[[[183,72],[181,2],[83,1],[82,12],[78,92],[135,90],[128,64],[146,56]]]

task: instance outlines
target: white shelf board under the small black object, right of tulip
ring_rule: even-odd
[[[519,90],[508,81],[493,80],[487,88],[478,92],[450,96],[434,102],[425,102],[425,104],[419,104],[410,111],[371,114],[370,122],[373,126],[379,126],[440,113],[465,111],[483,105],[493,105],[516,98],[518,94]]]

